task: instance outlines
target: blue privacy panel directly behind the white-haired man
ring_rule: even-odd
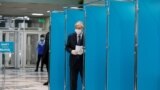
[[[84,22],[84,11],[82,9],[66,9],[66,36],[75,32],[75,23],[77,21]],[[66,55],[66,90],[70,90],[70,71],[69,71],[69,53]],[[82,90],[82,82],[79,74],[78,89]]]

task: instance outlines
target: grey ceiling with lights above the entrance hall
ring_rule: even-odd
[[[65,6],[78,6],[79,0],[48,0],[48,2],[19,2],[23,0],[0,0],[0,15],[3,16],[32,16],[31,13],[43,13],[49,16],[48,10],[63,10]],[[27,0],[26,0],[27,1]],[[31,0],[29,0],[31,1]],[[43,1],[43,0],[40,0]],[[47,0],[46,0],[47,1]],[[55,2],[54,2],[55,1]],[[59,2],[58,2],[59,1]],[[67,2],[65,2],[67,1]],[[68,2],[70,1],[70,2]],[[71,2],[72,1],[72,2]]]

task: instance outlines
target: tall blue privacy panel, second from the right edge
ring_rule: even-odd
[[[134,90],[134,16],[134,3],[110,3],[108,90]]]

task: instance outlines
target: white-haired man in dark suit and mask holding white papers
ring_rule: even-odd
[[[78,74],[83,80],[83,46],[84,34],[83,23],[75,24],[75,33],[68,36],[67,51],[70,53],[70,90],[77,90]]]

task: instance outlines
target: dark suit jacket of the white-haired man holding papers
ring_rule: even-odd
[[[67,51],[70,53],[70,66],[74,66],[76,63],[78,63],[79,65],[83,64],[83,55],[71,54],[71,51],[75,50],[76,45],[77,45],[77,34],[73,33],[68,36],[67,46],[66,46]],[[84,46],[84,36],[82,36],[80,45]]]

